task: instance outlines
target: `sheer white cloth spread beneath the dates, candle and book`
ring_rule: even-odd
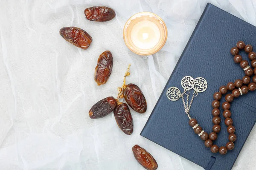
[[[253,0],[1,0],[0,169],[143,170],[131,151],[139,144],[154,156],[159,170],[201,170],[140,132],[207,2],[256,26]],[[116,18],[86,20],[84,9],[90,6],[109,6]],[[168,27],[166,45],[147,60],[129,51],[122,38],[125,21],[140,11],[158,14]],[[93,37],[87,50],[59,35],[67,26]],[[98,87],[94,68],[105,50],[113,54],[113,72]],[[113,114],[96,120],[88,116],[94,103],[116,97],[129,63],[127,83],[137,84],[148,103],[144,114],[131,111],[131,136],[119,130]],[[255,169],[255,141],[256,126],[233,170]]]

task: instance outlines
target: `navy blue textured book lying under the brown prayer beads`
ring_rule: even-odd
[[[206,170],[230,170],[256,122],[256,91],[249,91],[231,103],[237,140],[235,148],[225,155],[212,153],[204,146],[204,141],[189,126],[181,98],[172,102],[166,97],[166,91],[175,86],[182,92],[180,82],[185,76],[204,77],[208,88],[194,98],[189,114],[197,119],[204,131],[212,132],[213,94],[221,85],[244,76],[243,69],[233,61],[230,49],[240,40],[256,48],[255,35],[255,26],[208,3],[140,135]],[[250,61],[244,50],[239,54]],[[213,142],[219,147],[229,142],[221,107],[220,110],[222,129]]]

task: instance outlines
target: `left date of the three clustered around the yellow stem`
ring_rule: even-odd
[[[111,97],[106,97],[105,99],[97,102],[89,111],[89,116],[91,119],[99,119],[107,116],[116,108],[116,99]]]

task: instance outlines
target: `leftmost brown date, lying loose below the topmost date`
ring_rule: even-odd
[[[86,31],[77,27],[61,28],[60,34],[66,41],[82,49],[87,49],[93,41]]]

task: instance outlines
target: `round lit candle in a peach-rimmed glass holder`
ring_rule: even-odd
[[[135,54],[148,56],[163,48],[167,40],[167,27],[156,14],[140,12],[125,23],[123,38],[126,46]]]

